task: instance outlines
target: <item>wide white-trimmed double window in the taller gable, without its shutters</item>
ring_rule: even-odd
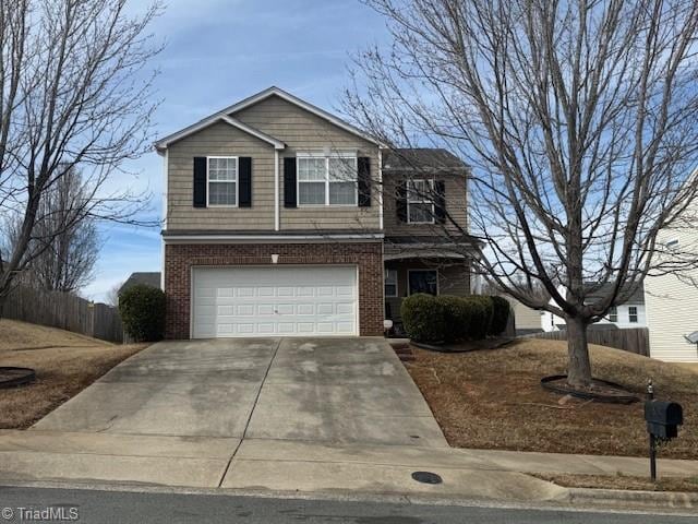
[[[298,156],[299,205],[359,205],[356,155]]]

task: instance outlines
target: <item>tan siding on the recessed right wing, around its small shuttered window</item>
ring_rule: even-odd
[[[383,224],[386,235],[433,235],[441,231],[442,225],[408,224],[397,216],[397,187],[400,181],[408,180],[408,175],[397,172],[383,174]],[[423,177],[414,177],[423,178]],[[462,175],[437,175],[435,180],[444,181],[446,211],[464,231],[468,230],[468,202],[466,177]],[[458,231],[458,227],[446,222],[449,230]]]

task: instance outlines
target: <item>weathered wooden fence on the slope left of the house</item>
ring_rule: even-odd
[[[70,293],[15,287],[4,303],[2,317],[59,327],[103,341],[123,342],[123,327],[117,308],[91,302]]]

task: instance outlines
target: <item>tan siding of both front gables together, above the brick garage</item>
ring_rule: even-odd
[[[370,207],[284,207],[284,157],[325,147],[357,151],[371,158],[378,175],[378,147],[277,96],[269,97],[234,117],[287,144],[279,152],[279,207],[281,229],[377,230],[377,201]],[[198,207],[192,205],[195,156],[252,157],[252,207]],[[378,184],[373,184],[373,195]],[[218,122],[169,146],[167,228],[215,230],[274,230],[274,147],[232,126]]]

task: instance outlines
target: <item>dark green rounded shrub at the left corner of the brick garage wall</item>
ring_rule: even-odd
[[[155,342],[165,333],[165,293],[137,284],[119,295],[119,314],[125,332],[136,342]]]

